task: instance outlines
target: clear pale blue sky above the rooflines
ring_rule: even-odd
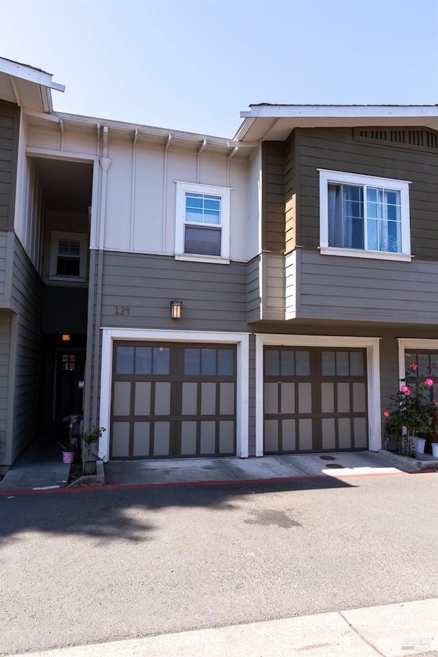
[[[438,0],[0,0],[57,112],[231,138],[257,103],[435,105]]]

